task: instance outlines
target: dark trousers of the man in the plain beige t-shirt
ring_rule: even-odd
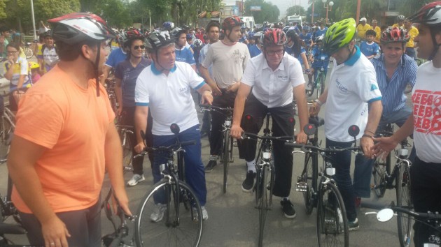
[[[236,93],[225,93],[214,97],[213,105],[217,107],[234,107]],[[211,133],[210,133],[210,154],[221,154],[222,148],[222,125],[225,122],[225,115],[219,112],[211,112]]]

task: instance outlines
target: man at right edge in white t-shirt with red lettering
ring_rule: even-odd
[[[401,140],[413,134],[416,157],[409,174],[412,184],[409,197],[416,212],[440,212],[441,1],[426,4],[409,20],[419,23],[419,35],[415,37],[418,57],[429,61],[419,66],[416,72],[412,89],[413,114],[391,137],[379,138],[374,150],[378,154],[388,154]],[[415,221],[413,229],[416,247],[433,243],[430,238],[433,239],[437,232],[431,223]],[[405,236],[400,242],[409,243],[410,234]]]

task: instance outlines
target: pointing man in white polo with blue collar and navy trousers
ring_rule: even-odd
[[[147,44],[153,63],[142,70],[135,87],[135,127],[138,140],[135,151],[144,150],[141,130],[146,130],[149,110],[153,117],[153,147],[172,145],[176,143],[176,138],[181,142],[195,140],[196,144],[183,147],[186,182],[197,195],[202,206],[202,217],[206,220],[207,186],[201,158],[201,136],[190,88],[202,95],[202,103],[208,104],[213,100],[211,89],[188,63],[175,61],[174,38],[170,38],[168,31],[151,33]],[[170,130],[172,123],[177,123],[181,129],[177,136]],[[165,163],[166,158],[155,156],[152,165],[153,183],[160,181],[160,164]],[[164,197],[155,197],[156,207],[151,214],[154,222],[162,220],[167,209]]]

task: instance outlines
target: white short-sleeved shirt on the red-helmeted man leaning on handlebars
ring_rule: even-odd
[[[241,83],[253,87],[253,95],[269,108],[293,102],[293,87],[304,84],[302,66],[285,52],[279,68],[269,68],[263,54],[253,57],[246,66]]]

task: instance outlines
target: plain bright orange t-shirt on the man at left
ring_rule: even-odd
[[[15,135],[47,148],[35,169],[55,212],[86,209],[99,198],[104,142],[115,117],[106,90],[99,88],[97,97],[94,80],[83,89],[55,66],[20,100]],[[15,188],[12,199],[31,213]]]

